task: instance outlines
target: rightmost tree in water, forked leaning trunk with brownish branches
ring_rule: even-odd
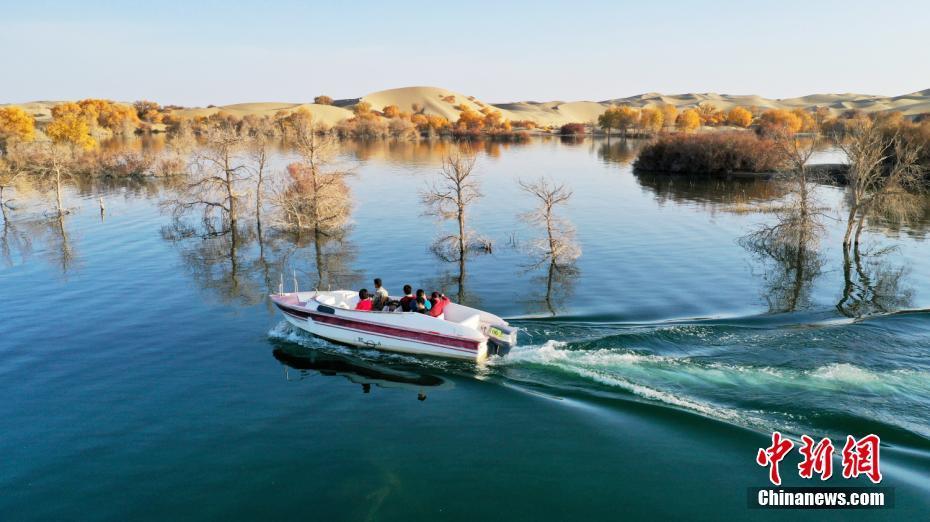
[[[837,143],[849,162],[843,236],[848,249],[859,244],[866,218],[877,213],[902,218],[919,210],[923,171],[917,144],[868,119],[856,120]]]

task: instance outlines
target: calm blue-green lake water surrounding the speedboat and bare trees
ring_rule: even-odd
[[[19,197],[0,264],[0,518],[775,519],[746,500],[774,429],[838,451],[876,433],[895,488],[892,510],[791,517],[930,512],[926,214],[871,223],[848,263],[828,216],[799,265],[745,247],[774,218],[740,209],[778,198],[774,182],[634,174],[632,143],[490,144],[470,216],[493,253],[460,287],[418,199],[453,146],[345,144],[351,226],[322,242],[248,222],[235,245],[176,239],[159,181],[71,186],[61,222]],[[574,191],[559,212],[582,250],[551,286],[517,185],[540,176]],[[839,188],[818,198],[842,206]],[[482,366],[333,346],[269,306],[295,271],[305,289],[441,288],[509,318],[521,346]],[[786,485],[811,484],[798,461]]]

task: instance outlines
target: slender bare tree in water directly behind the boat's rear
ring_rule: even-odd
[[[465,294],[465,259],[469,250],[490,252],[489,241],[480,240],[468,229],[468,208],[482,197],[475,177],[476,155],[470,148],[451,151],[443,158],[436,181],[420,193],[428,211],[455,222],[455,232],[440,236],[431,247],[437,257],[459,265],[459,301]]]

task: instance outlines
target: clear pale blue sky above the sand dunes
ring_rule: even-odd
[[[930,88],[930,2],[0,0],[0,102]]]

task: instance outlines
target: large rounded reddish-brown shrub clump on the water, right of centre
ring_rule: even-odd
[[[748,132],[670,134],[643,147],[633,164],[674,174],[773,172],[780,166],[775,142]]]

